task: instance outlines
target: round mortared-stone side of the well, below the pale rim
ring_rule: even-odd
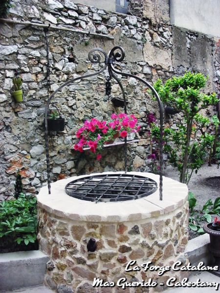
[[[114,281],[125,277],[128,282],[150,278],[157,283],[165,283],[170,277],[182,280],[187,272],[169,271],[159,276],[158,272],[126,272],[125,267],[131,260],[141,266],[172,266],[181,261],[188,264],[184,256],[188,242],[188,203],[165,215],[144,220],[121,223],[77,222],[58,218],[39,209],[40,249],[50,258],[45,276],[51,289],[69,293],[104,292],[161,292],[166,286],[155,288],[105,288],[92,287],[93,279]],[[97,250],[87,252],[89,238],[97,240]]]

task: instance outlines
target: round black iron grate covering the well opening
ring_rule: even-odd
[[[154,180],[131,174],[85,176],[69,182],[65,188],[72,197],[95,202],[137,199],[154,193],[156,189]]]

